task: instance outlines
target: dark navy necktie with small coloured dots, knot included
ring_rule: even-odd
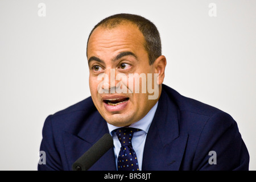
[[[115,130],[119,142],[121,143],[117,158],[118,171],[139,171],[137,156],[131,145],[133,133],[136,131],[140,130],[134,129],[133,127],[121,127]]]

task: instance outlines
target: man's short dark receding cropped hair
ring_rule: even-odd
[[[144,48],[148,53],[149,63],[150,65],[153,64],[154,61],[162,55],[160,34],[155,24],[142,16],[134,14],[115,14],[109,16],[96,24],[96,26],[94,26],[93,30],[90,32],[90,35],[92,35],[92,32],[99,26],[105,28],[114,28],[123,22],[131,22],[135,24],[139,28],[139,31],[142,32],[145,39]],[[90,35],[87,40],[87,47]],[[86,48],[86,55],[87,50],[88,48]]]

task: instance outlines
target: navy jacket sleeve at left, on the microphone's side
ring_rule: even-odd
[[[38,171],[62,170],[59,152],[56,150],[54,134],[52,129],[52,115],[46,118],[43,126],[43,139],[40,146],[40,152],[45,155],[44,162],[38,163]]]

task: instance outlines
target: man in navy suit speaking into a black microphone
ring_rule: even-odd
[[[90,170],[248,170],[237,123],[163,84],[166,57],[157,28],[117,14],[88,38],[91,97],[49,115],[39,170],[71,170],[105,133],[114,147]]]

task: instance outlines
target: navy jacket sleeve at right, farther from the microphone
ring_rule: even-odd
[[[249,153],[236,121],[224,112],[205,123],[193,160],[195,170],[249,170]]]

